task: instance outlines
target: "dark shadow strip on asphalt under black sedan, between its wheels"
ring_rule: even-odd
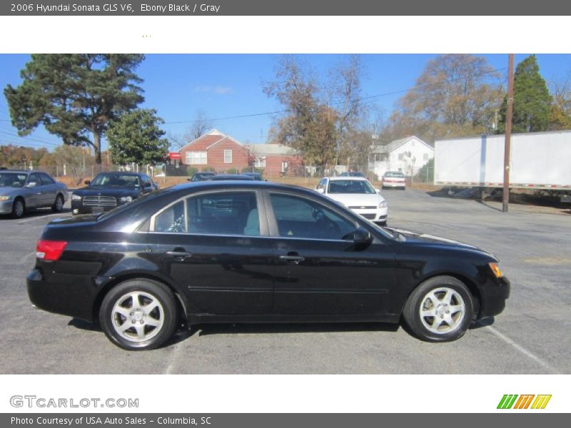
[[[191,326],[191,336],[268,333],[395,332],[400,325],[385,322],[310,324],[199,324]]]

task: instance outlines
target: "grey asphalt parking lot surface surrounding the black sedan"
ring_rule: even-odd
[[[568,374],[571,214],[510,210],[423,190],[385,190],[390,226],[490,250],[512,282],[505,311],[457,342],[378,324],[203,325],[126,352],[86,322],[35,310],[25,278],[49,210],[0,218],[2,374]],[[69,213],[69,203],[66,214]]]

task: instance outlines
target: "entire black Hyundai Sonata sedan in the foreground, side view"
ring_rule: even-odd
[[[31,302],[98,320],[128,350],[204,322],[400,322],[458,339],[502,312],[497,259],[379,228],[323,195],[256,181],[177,185],[98,215],[49,223]]]

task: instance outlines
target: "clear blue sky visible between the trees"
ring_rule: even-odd
[[[384,111],[393,111],[395,102],[412,88],[429,54],[366,54],[362,55],[362,95]],[[507,74],[507,54],[482,54],[490,66]],[[517,54],[515,64],[528,54]],[[304,54],[300,58],[326,79],[328,70],[346,60],[344,55]],[[18,86],[20,70],[30,56],[0,54],[0,87]],[[213,127],[243,143],[266,143],[268,128],[276,115],[261,114],[281,111],[275,98],[263,93],[265,82],[275,79],[277,55],[271,54],[151,54],[138,66],[143,78],[142,108],[155,108],[165,123],[167,136],[182,135],[197,111],[211,118]],[[571,55],[538,54],[540,73],[549,84],[571,73]],[[236,117],[258,115],[252,117]],[[0,95],[0,145],[16,144],[52,150],[61,141],[39,127],[27,138],[19,138],[11,126],[9,108],[4,94]]]

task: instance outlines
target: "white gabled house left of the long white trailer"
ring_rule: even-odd
[[[411,136],[385,146],[373,146],[369,156],[369,170],[378,178],[386,171],[400,171],[410,176],[418,173],[432,158],[434,148],[420,138]]]

